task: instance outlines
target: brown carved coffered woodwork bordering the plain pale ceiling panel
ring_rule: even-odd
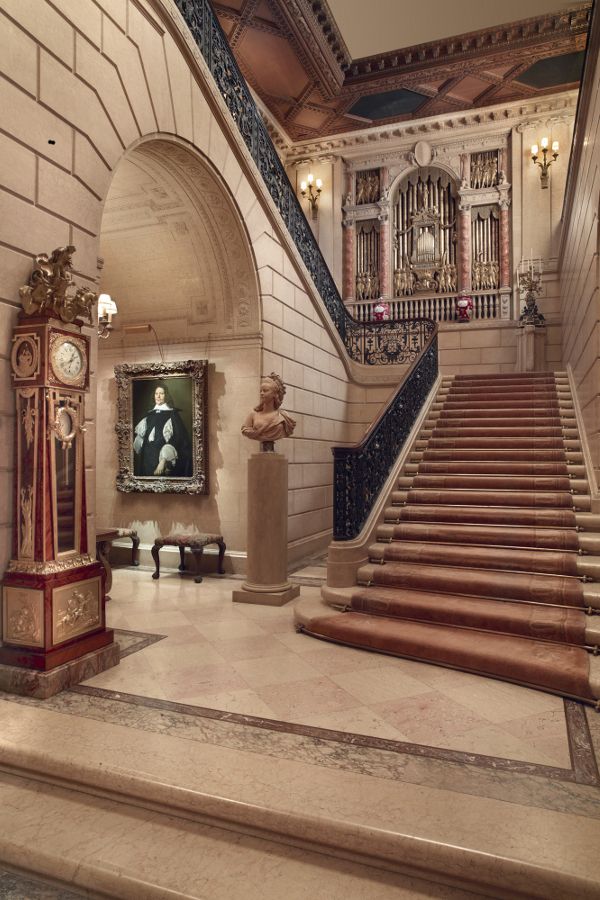
[[[229,2],[232,0],[214,0],[213,5],[229,33],[244,77],[269,109],[271,124],[277,122],[284,129],[283,138],[275,141],[280,153],[285,153],[288,142],[354,132],[357,124],[378,129],[385,139],[382,129],[386,125],[452,116],[498,101],[506,104],[570,90],[576,85],[535,88],[516,79],[542,59],[582,51],[592,9],[591,2],[586,2],[559,13],[352,61],[326,0],[245,0],[240,9],[229,6]],[[271,63],[265,79],[261,77],[261,32]],[[243,37],[250,33],[252,51],[244,53]],[[276,35],[281,44],[275,42],[274,49],[269,40],[267,45],[266,35]],[[285,49],[283,42],[287,44]],[[273,87],[273,68],[279,65],[284,72],[290,53],[305,80],[302,82],[299,74],[294,87],[288,85],[288,95],[282,79],[282,93],[278,95]],[[421,106],[386,119],[372,120],[370,113],[364,118],[352,113],[360,99],[400,90],[421,94]],[[365,109],[370,108],[365,104]],[[375,111],[373,114],[377,115]]]

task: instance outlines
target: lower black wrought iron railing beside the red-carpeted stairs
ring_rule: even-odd
[[[431,322],[420,354],[366,436],[352,447],[333,448],[333,537],[348,541],[365,524],[373,503],[413,428],[438,374],[437,327]]]

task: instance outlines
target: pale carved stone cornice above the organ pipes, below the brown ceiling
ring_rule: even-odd
[[[569,121],[575,115],[577,91],[516,101],[490,109],[461,112],[453,115],[441,115],[421,120],[411,120],[400,125],[386,125],[383,128],[332,135],[319,141],[300,141],[290,148],[286,154],[286,165],[302,157],[315,157],[323,153],[344,156],[351,167],[359,167],[366,160],[378,160],[377,164],[385,165],[388,159],[397,159],[396,147],[412,141],[427,138],[433,141],[440,138],[447,146],[461,147],[462,143],[449,140],[452,133],[464,132],[477,128],[478,134],[471,140],[479,143],[488,141],[500,146],[502,132],[508,134],[514,127],[519,127],[523,120],[546,122],[550,119]],[[494,129],[489,137],[481,134],[481,128]],[[389,152],[382,152],[381,142],[388,142]],[[463,138],[466,144],[469,138]],[[392,149],[393,145],[393,149]],[[369,148],[372,153],[369,153]],[[486,148],[488,149],[488,148]]]

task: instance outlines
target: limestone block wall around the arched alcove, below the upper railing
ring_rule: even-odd
[[[168,511],[164,504],[170,501],[163,498],[158,512],[153,495],[122,497],[114,490],[111,376],[116,361],[152,361],[159,358],[157,348],[135,343],[116,328],[100,353],[94,349],[86,435],[90,533],[97,496],[103,525],[138,524],[149,539],[156,527],[206,523],[220,526],[230,548],[242,554],[245,463],[252,447],[242,442],[237,429],[255,402],[260,373],[273,369],[289,385],[286,407],[298,420],[295,439],[282,444],[291,463],[292,553],[324,546],[331,528],[331,444],[359,437],[389,395],[390,379],[399,376],[384,372],[377,376],[381,381],[361,386],[360,376],[357,381],[344,368],[338,340],[303,264],[281,230],[241,139],[230,131],[222,99],[175,4],[2,0],[0,51],[0,439],[5,448],[0,461],[0,568],[10,554],[14,416],[8,356],[18,288],[37,253],[68,243],[77,248],[77,281],[99,279],[103,290],[122,292],[119,297],[115,293],[122,322],[159,322],[167,359],[209,358],[214,390],[209,403],[214,429],[211,495],[196,505],[180,498]],[[146,306],[135,295],[135,279],[123,274],[125,251],[119,256],[104,240],[116,233],[106,227],[107,197],[124,160],[132,153],[151,153],[152,146],[160,145],[163,152],[165,143],[176,154],[190,156],[198,179],[212,173],[217,188],[202,196],[208,206],[226,198],[224,206],[235,213],[254,286],[241,276],[225,283],[215,275],[207,288],[193,275],[193,284],[176,280],[171,293],[163,289]],[[182,195],[191,194],[189,184],[196,176],[179,182]],[[143,238],[154,240],[157,252],[164,249],[160,242],[171,224],[163,200],[160,190],[148,190],[150,218],[144,220]],[[130,215],[130,210],[122,212]],[[195,214],[202,219],[201,205]],[[211,221],[212,237],[194,246],[200,272],[206,254],[217,246],[216,232],[223,237],[223,222],[216,214]],[[169,233],[175,241],[181,231],[172,224]],[[100,271],[103,254],[106,264]],[[141,251],[129,257],[140,277],[144,259]],[[225,252],[219,265],[229,270],[235,257]],[[214,266],[211,271],[214,275]],[[147,275],[151,293],[156,279]],[[247,296],[240,296],[240,284],[249,285]]]

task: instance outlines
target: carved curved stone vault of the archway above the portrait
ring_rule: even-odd
[[[117,331],[151,321],[161,339],[251,334],[255,265],[223,182],[181,142],[146,140],[119,163],[106,198],[101,286]]]

